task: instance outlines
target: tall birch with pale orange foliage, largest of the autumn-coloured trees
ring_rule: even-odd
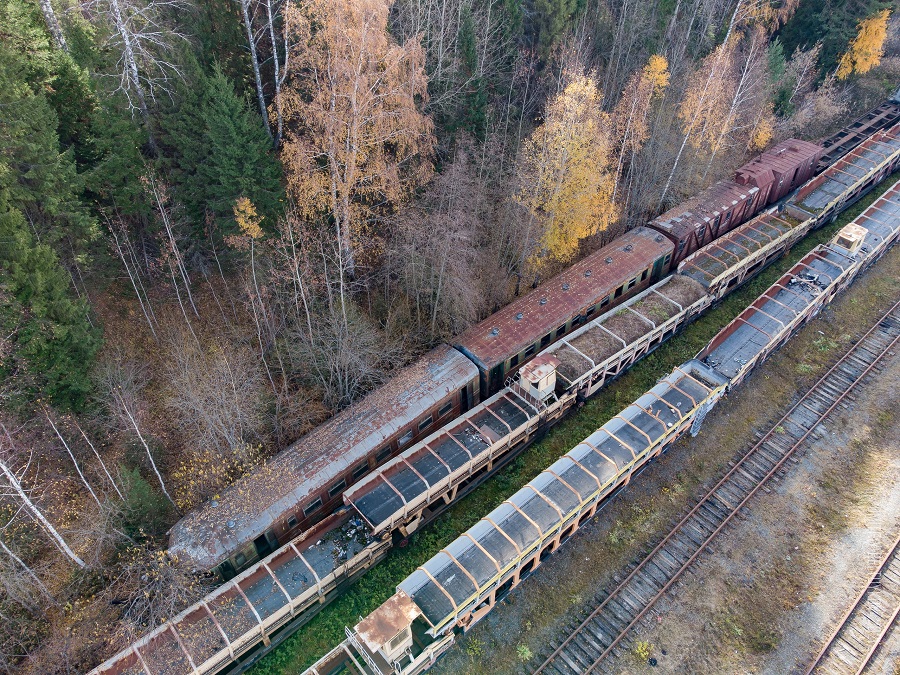
[[[386,0],[311,0],[287,12],[288,189],[303,217],[333,223],[339,273],[351,276],[373,213],[399,204],[432,172],[424,52],[414,40],[391,39],[388,10]]]

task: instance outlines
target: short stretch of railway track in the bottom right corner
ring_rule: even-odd
[[[838,622],[806,675],[859,675],[900,614],[900,537]]]

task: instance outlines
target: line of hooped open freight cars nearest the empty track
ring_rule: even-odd
[[[676,367],[421,565],[306,671],[417,675],[537,569],[617,489],[900,239],[900,182],[804,256],[694,358]]]

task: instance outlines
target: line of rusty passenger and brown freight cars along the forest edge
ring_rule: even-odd
[[[224,579],[246,569],[334,513],[348,485],[496,394],[535,354],[658,284],[695,251],[806,183],[821,152],[804,141],[779,143],[734,181],[617,237],[186,515],[171,530],[170,551]]]

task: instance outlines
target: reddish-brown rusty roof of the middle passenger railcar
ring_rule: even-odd
[[[456,344],[490,370],[673,249],[659,233],[637,227],[469,328]]]

